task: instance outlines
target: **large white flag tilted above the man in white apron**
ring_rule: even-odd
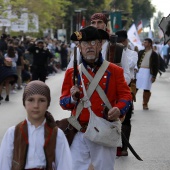
[[[128,35],[128,39],[129,41],[134,45],[134,46],[137,46],[140,49],[143,49],[143,46],[142,46],[142,42],[139,38],[139,35],[138,35],[138,32],[137,32],[137,29],[136,29],[136,26],[135,24],[133,24],[128,32],[127,32],[127,35]]]

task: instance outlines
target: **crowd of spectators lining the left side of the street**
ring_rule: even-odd
[[[71,49],[57,39],[27,36],[0,38],[0,101],[9,101],[9,95],[17,93],[29,81],[66,70]],[[12,62],[11,65],[7,65]],[[2,92],[6,95],[3,97]]]

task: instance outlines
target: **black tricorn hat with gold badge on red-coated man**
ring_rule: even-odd
[[[93,26],[88,26],[80,31],[76,31],[71,35],[71,40],[73,41],[91,41],[91,40],[104,40],[109,39],[109,34],[102,30],[97,29]]]

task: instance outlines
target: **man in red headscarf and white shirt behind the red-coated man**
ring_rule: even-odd
[[[103,14],[103,13],[95,13],[91,16],[91,26],[96,27],[97,29],[103,29],[103,30],[107,31],[107,22],[108,22],[108,20],[107,20],[105,14]],[[109,41],[103,40],[102,41],[102,51],[101,51],[103,59],[107,59],[108,49],[109,49]],[[131,81],[131,78],[130,78],[128,59],[125,55],[125,51],[123,50],[121,56],[116,56],[116,57],[121,58],[120,65],[123,68],[125,80],[126,80],[127,84],[129,84]],[[67,66],[67,69],[73,67],[73,59],[74,59],[73,53],[70,58],[71,58],[71,60]],[[77,60],[78,60],[77,63],[80,64],[81,57],[80,57],[80,51],[78,48],[77,48]]]

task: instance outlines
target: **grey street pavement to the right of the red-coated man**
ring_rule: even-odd
[[[115,170],[170,170],[170,69],[152,85],[149,110],[142,110],[142,90],[137,93],[131,119],[130,143],[143,161],[129,151],[118,157]]]

